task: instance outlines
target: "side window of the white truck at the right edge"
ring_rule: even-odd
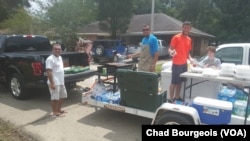
[[[222,63],[242,64],[243,48],[222,48],[216,52],[216,57],[219,58]]]

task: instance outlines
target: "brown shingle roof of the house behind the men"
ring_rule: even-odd
[[[131,18],[128,30],[124,35],[125,36],[141,35],[142,27],[144,25],[150,25],[150,23],[151,23],[151,14],[134,15]],[[155,35],[173,35],[173,34],[177,34],[181,32],[182,22],[163,13],[155,13],[153,29],[154,29],[153,32]],[[105,31],[102,31],[99,28],[98,21],[86,25],[82,30],[80,30],[80,32],[83,34],[98,34],[98,35],[109,34]],[[206,37],[211,37],[211,38],[215,37],[211,34],[205,33],[194,27],[192,28],[190,35],[206,36]]]

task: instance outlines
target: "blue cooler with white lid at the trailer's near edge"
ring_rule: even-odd
[[[232,102],[217,99],[196,97],[192,102],[204,124],[228,124],[231,121]]]

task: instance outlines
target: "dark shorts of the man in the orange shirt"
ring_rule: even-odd
[[[180,74],[187,71],[187,64],[184,65],[172,65],[172,84],[180,84],[186,81],[186,78],[180,77]]]

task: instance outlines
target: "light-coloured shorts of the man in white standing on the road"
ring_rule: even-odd
[[[60,98],[67,98],[67,90],[64,85],[56,85],[55,89],[49,87],[51,100],[59,100]]]

